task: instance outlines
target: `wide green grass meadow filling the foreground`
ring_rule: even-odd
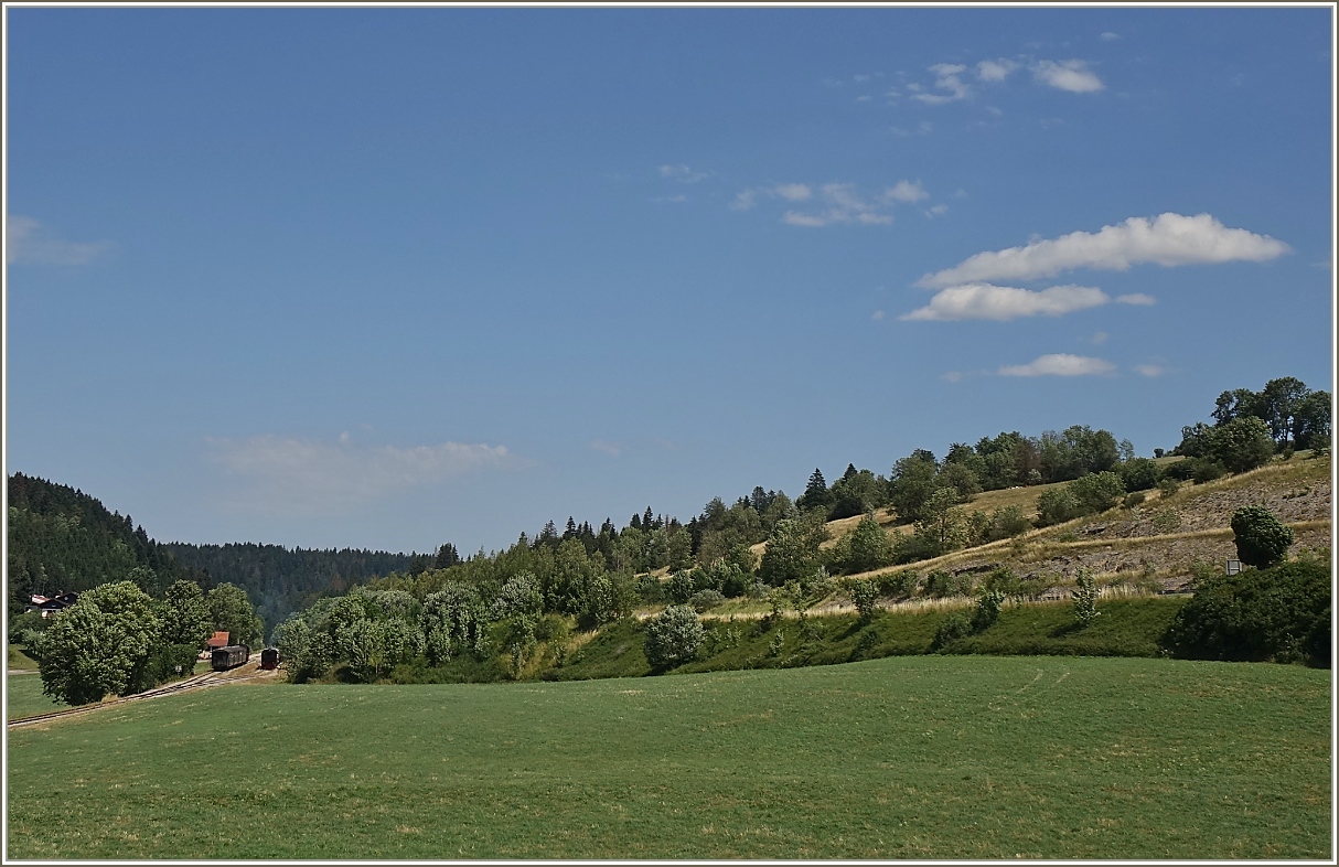
[[[229,686],[9,734],[11,859],[1332,856],[1330,673]]]

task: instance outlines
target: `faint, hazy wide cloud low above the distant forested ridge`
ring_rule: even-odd
[[[513,461],[502,445],[360,446],[347,433],[335,442],[262,436],[206,444],[210,458],[246,486],[240,500],[246,508],[285,516],[347,512],[395,490]]]

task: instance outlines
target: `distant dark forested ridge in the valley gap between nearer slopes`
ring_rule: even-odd
[[[412,555],[352,548],[320,551],[254,543],[194,545],[177,541],[163,548],[179,563],[206,572],[216,584],[228,582],[245,588],[266,628],[321,596],[339,596],[353,584],[407,572],[414,565]]]

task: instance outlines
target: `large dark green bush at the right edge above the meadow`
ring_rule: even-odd
[[[1330,665],[1330,564],[1296,560],[1204,582],[1162,646],[1192,659]]]

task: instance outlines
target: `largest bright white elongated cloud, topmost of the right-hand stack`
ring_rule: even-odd
[[[1026,247],[977,253],[960,264],[925,275],[919,285],[941,288],[990,280],[1036,280],[1075,268],[1125,271],[1153,263],[1164,267],[1225,261],[1265,261],[1288,252],[1267,235],[1229,229],[1209,214],[1165,213],[1153,220],[1130,217],[1097,233],[1071,232]]]

